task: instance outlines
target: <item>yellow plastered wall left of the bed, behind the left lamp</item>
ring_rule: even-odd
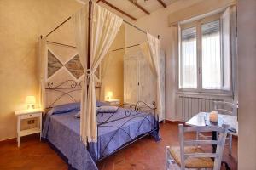
[[[80,7],[73,0],[0,1],[0,140],[15,137],[14,111],[26,108],[26,95],[38,94],[38,37]]]

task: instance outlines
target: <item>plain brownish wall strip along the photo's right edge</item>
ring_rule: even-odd
[[[238,0],[238,169],[256,169],[256,1]]]

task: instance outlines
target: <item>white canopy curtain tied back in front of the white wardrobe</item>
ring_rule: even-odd
[[[143,55],[148,60],[151,71],[157,79],[157,113],[163,113],[163,92],[160,88],[160,40],[147,33],[147,42],[140,45]]]

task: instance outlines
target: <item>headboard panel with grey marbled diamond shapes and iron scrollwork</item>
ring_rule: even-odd
[[[47,43],[46,108],[79,102],[84,74],[76,48]],[[101,71],[96,71],[96,99],[100,99]]]

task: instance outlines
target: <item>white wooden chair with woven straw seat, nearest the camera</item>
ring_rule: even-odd
[[[176,161],[181,170],[185,168],[212,168],[219,170],[221,167],[221,160],[223,156],[225,139],[229,125],[222,127],[183,127],[183,124],[178,125],[179,128],[179,144],[180,147],[166,146],[166,170],[172,162]],[[185,140],[184,133],[188,132],[212,132],[219,133],[218,140]],[[216,153],[206,153],[198,145],[217,145]],[[214,161],[212,160],[214,158]]]

